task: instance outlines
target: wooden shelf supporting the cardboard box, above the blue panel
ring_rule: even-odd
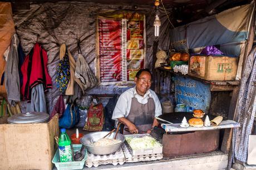
[[[234,87],[237,87],[240,83],[240,81],[206,81],[205,79],[200,79],[194,76],[189,76],[188,74],[184,75],[181,73],[176,73],[173,71],[173,69],[165,69],[163,67],[157,68],[157,85],[160,80],[160,72],[168,72],[170,74],[175,74],[182,77],[188,77],[195,79],[196,81],[200,81],[205,84],[210,84],[210,91],[233,91]],[[159,84],[160,85],[160,84]],[[159,88],[157,88],[159,89]]]

